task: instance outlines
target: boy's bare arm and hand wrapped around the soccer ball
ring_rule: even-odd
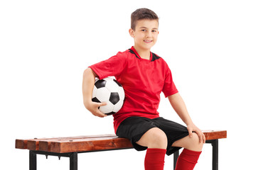
[[[103,118],[106,115],[100,112],[98,108],[100,106],[105,106],[107,103],[96,103],[92,101],[92,90],[95,84],[95,77],[97,77],[97,74],[93,72],[90,67],[85,69],[82,79],[83,103],[85,108],[87,108],[87,110],[90,111],[93,115]]]

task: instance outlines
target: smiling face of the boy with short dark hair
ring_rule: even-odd
[[[139,20],[135,30],[129,29],[129,33],[134,38],[134,47],[138,50],[150,50],[156,44],[159,35],[158,21]]]

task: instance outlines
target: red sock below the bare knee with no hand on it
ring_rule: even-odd
[[[163,170],[165,154],[166,149],[148,148],[145,157],[145,170]]]

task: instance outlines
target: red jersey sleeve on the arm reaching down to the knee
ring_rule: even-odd
[[[165,97],[168,97],[168,96],[178,93],[178,90],[176,89],[176,86],[175,86],[174,81],[171,76],[171,69],[169,69],[167,64],[166,64],[164,87],[163,87],[162,91],[163,91]]]

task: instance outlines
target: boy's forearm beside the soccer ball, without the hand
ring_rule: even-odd
[[[90,67],[85,69],[82,79],[82,96],[85,108],[87,108],[87,105],[92,101],[92,90],[95,84],[95,77],[97,77],[97,74],[95,74]]]

